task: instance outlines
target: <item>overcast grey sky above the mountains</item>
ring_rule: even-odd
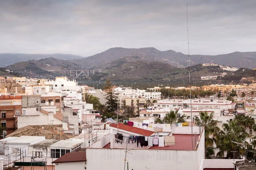
[[[256,51],[256,0],[0,0],[0,53]]]

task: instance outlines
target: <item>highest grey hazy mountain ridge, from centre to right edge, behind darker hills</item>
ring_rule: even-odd
[[[156,48],[110,48],[90,57],[73,60],[84,68],[104,69],[116,59],[145,60],[149,62],[165,62],[175,67],[188,66],[188,55],[172,50],[159,51]],[[191,65],[213,62],[219,65],[238,68],[256,68],[256,52],[234,52],[221,55],[191,55]]]

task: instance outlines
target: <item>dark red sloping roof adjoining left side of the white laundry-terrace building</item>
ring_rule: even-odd
[[[56,159],[52,163],[82,162],[86,161],[86,152],[70,152]]]

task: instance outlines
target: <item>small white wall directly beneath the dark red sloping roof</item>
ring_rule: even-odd
[[[86,167],[84,162],[65,162],[55,164],[55,170],[84,170]],[[94,170],[94,169],[91,169]],[[96,170],[96,169],[95,169]]]

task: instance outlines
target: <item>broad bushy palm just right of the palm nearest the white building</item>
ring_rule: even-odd
[[[241,143],[249,137],[249,134],[245,132],[245,127],[239,125],[238,121],[229,121],[228,123],[224,123],[222,127],[223,131],[220,133],[216,147],[219,149],[217,156],[223,157],[226,154],[227,158],[233,158],[231,151],[238,151],[243,155],[244,148],[241,148],[234,142]]]

